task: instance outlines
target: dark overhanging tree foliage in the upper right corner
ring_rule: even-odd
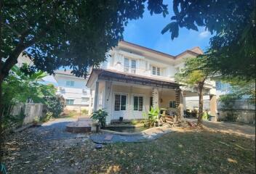
[[[203,26],[214,35],[207,51],[209,67],[221,75],[255,78],[255,0],[174,0],[173,11],[172,22],[161,33],[169,31],[174,39],[179,28],[198,30]]]

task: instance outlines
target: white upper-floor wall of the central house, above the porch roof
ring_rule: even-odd
[[[199,49],[195,49],[199,52]],[[185,67],[185,60],[191,57],[195,57],[195,54],[185,52],[177,58],[163,57],[158,54],[152,54],[148,51],[138,50],[134,48],[128,48],[125,46],[117,46],[115,49],[108,52],[106,61],[100,65],[100,68],[105,70],[115,70],[119,72],[125,72],[124,59],[129,59],[129,71],[132,72],[131,62],[136,61],[135,74],[143,75],[145,77],[159,78],[159,80],[172,80],[175,81],[175,73],[180,72]],[[160,68],[160,75],[153,75],[152,67]],[[205,85],[208,88],[214,88],[215,82],[207,80]],[[211,91],[211,94],[215,94],[215,91]]]

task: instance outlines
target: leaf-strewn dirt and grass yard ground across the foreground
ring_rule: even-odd
[[[4,154],[7,172],[255,173],[255,128],[249,125],[204,122],[210,131],[177,130],[156,141],[111,144],[98,151],[89,133],[65,131],[65,125],[73,121],[57,119],[9,135]],[[216,157],[209,155],[212,149]]]

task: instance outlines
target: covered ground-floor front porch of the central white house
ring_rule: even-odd
[[[167,109],[168,115],[183,118],[185,96],[198,96],[196,91],[180,88],[171,80],[145,78],[139,75],[99,70],[92,88],[93,110],[108,112],[106,123],[142,120],[151,107]]]

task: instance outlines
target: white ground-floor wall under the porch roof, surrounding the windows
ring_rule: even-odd
[[[92,91],[95,91],[95,86],[92,86]],[[118,120],[119,117],[123,117],[124,120],[137,120],[143,119],[143,113],[148,112],[150,109],[151,96],[153,94],[153,88],[145,86],[134,86],[129,83],[114,83],[110,81],[99,81],[97,97],[97,109],[103,108],[108,112],[106,123],[110,124],[111,120]],[[169,101],[175,101],[175,91],[168,90],[159,91],[159,107],[166,108],[172,112],[176,112],[177,109],[169,107]],[[115,94],[127,95],[126,110],[115,111],[114,102]],[[92,95],[92,97],[95,95]],[[135,111],[133,109],[133,96],[143,96],[143,111]]]

